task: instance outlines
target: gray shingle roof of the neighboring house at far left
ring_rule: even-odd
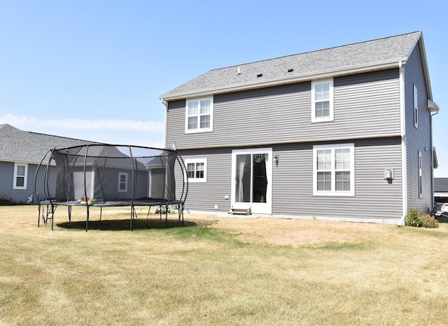
[[[0,125],[0,161],[39,163],[48,150],[93,143]]]

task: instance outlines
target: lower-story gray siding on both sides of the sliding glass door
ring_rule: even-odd
[[[402,213],[400,138],[354,143],[355,197],[313,196],[313,143],[274,146],[279,165],[272,168],[272,214],[398,222]],[[216,211],[214,205],[218,205],[217,211],[229,211],[232,149],[186,150],[181,155],[184,160],[207,158],[207,183],[189,184],[186,209]],[[394,169],[391,183],[384,180],[384,169]]]

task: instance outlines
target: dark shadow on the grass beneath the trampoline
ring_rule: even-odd
[[[76,222],[62,222],[56,224],[57,227],[64,229],[83,229],[85,230],[85,220]],[[184,220],[167,220],[165,219],[148,219],[148,220],[132,220],[132,229],[172,229],[175,227],[195,227],[197,223]],[[88,223],[88,229],[90,230],[104,230],[104,231],[129,231],[131,229],[130,219],[123,220],[90,220]]]

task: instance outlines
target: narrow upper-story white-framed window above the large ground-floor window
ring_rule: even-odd
[[[333,121],[333,79],[311,82],[311,122]]]

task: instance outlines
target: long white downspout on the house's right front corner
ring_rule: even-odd
[[[401,186],[402,186],[402,215],[398,226],[405,222],[407,212],[407,148],[406,148],[406,107],[405,107],[405,69],[402,61],[398,63],[400,69],[400,135],[401,135]]]

